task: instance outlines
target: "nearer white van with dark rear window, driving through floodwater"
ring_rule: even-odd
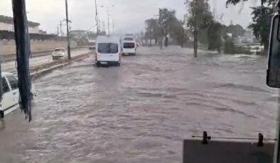
[[[97,67],[102,65],[120,65],[121,45],[118,37],[98,36],[96,43],[95,61]]]

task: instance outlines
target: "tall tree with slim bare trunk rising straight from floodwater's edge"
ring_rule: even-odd
[[[185,4],[188,6],[189,15],[187,25],[193,31],[194,36],[194,57],[197,57],[198,31],[205,31],[212,23],[213,16],[210,12],[208,0],[186,0]]]

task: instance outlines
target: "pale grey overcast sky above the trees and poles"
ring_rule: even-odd
[[[107,29],[107,9],[100,6],[114,5],[109,8],[110,23],[112,24],[114,19],[115,28],[122,33],[129,33],[143,30],[144,21],[156,18],[158,8],[175,9],[176,16],[183,18],[186,12],[183,1],[185,0],[97,0],[97,10]],[[258,0],[246,2],[244,5],[229,6],[227,9],[225,1],[209,0],[212,11],[215,6],[217,18],[222,16],[222,23],[229,24],[232,21],[246,28],[251,21],[249,7],[258,5]],[[68,4],[72,30],[87,30],[95,25],[94,0],[68,0]],[[29,21],[41,23],[40,28],[48,33],[57,33],[58,23],[65,18],[65,1],[26,0],[26,10],[29,12]],[[11,0],[0,0],[0,15],[12,16]]]

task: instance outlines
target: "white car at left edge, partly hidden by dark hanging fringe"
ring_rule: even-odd
[[[0,103],[0,118],[12,111],[19,108],[19,91],[18,91],[18,79],[14,74],[8,72],[2,72],[2,90],[3,96]],[[34,86],[31,86],[32,97],[36,96]]]

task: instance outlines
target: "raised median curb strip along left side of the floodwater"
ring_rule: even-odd
[[[68,64],[71,64],[72,62],[76,62],[76,61],[78,61],[78,60],[83,60],[83,59],[85,59],[86,57],[89,57],[91,54],[92,54],[92,52],[88,52],[88,53],[83,54],[83,55],[78,55],[78,56],[73,57],[71,60],[65,60],[65,62],[63,62],[63,63],[61,63],[61,64],[55,64],[55,65],[52,66],[52,67],[48,67],[48,68],[46,68],[46,69],[38,70],[37,72],[31,73],[31,78],[32,78],[32,79],[37,79],[38,77],[41,77],[41,75],[46,74],[46,73],[48,73],[48,72],[51,72],[51,71],[53,71],[54,69],[58,69],[58,68],[60,68],[60,67],[65,67],[65,66],[67,66]]]

